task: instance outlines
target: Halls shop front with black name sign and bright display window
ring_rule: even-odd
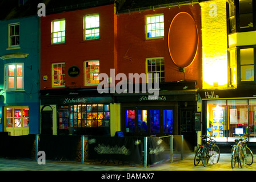
[[[214,135],[219,144],[233,144],[240,135],[248,135],[256,146],[255,90],[200,90],[202,98],[202,134]],[[229,145],[230,146],[230,145]]]

